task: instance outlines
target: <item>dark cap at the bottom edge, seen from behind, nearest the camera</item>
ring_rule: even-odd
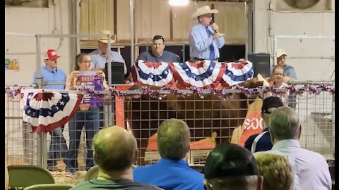
[[[208,154],[203,172],[205,179],[258,175],[258,166],[246,148],[237,144],[220,144]]]

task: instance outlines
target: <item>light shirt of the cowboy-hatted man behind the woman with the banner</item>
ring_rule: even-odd
[[[126,75],[127,73],[127,68],[126,68],[126,63],[124,58],[122,58],[122,56],[116,52],[116,51],[110,51],[111,52],[111,62],[121,62],[124,63],[124,74]],[[96,49],[95,51],[90,52],[90,59],[92,61],[93,64],[93,68],[105,68],[105,64],[108,62],[108,56],[102,56],[102,51],[100,51],[100,49]]]

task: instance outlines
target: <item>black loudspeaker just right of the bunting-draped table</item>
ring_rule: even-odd
[[[270,53],[251,53],[247,58],[253,63],[254,77],[259,73],[263,78],[270,77]]]

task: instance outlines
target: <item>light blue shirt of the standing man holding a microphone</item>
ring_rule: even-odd
[[[211,34],[214,34],[212,27],[208,26],[208,30],[210,30]],[[201,25],[195,25],[191,29],[191,33],[189,34],[189,55],[191,58],[202,58],[209,59],[210,57],[210,44],[213,43],[214,46],[214,58],[219,58],[220,53],[219,49],[222,48],[225,44],[224,37],[218,37],[214,39],[212,37],[208,37],[206,32],[206,28]]]

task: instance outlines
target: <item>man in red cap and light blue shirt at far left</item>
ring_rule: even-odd
[[[42,88],[43,89],[59,89],[63,90],[66,83],[66,74],[61,69],[58,69],[57,59],[60,56],[57,55],[57,51],[49,49],[44,53],[44,63],[46,64],[41,68]],[[37,73],[34,72],[33,83],[36,83]],[[48,83],[59,83],[59,84],[48,84]],[[66,164],[67,159],[67,144],[64,138],[64,125],[55,128],[51,135],[51,142],[49,144],[49,153],[47,159],[47,169],[55,170],[57,160],[61,158]]]

